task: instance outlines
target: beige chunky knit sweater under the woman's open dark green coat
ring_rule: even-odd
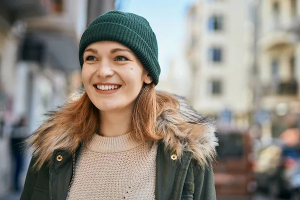
[[[95,134],[78,154],[67,200],[154,199],[156,142]]]

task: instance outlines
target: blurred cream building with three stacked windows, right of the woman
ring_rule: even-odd
[[[248,0],[198,0],[188,11],[189,99],[220,122],[247,126],[252,29]]]

